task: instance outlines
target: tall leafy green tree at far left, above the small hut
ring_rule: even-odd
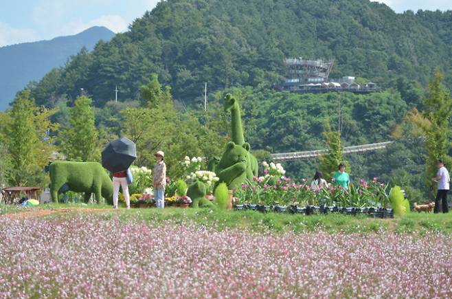
[[[1,135],[8,153],[8,182],[16,186],[45,185],[43,167],[48,163],[53,146],[49,131],[57,126],[49,121],[54,110],[36,107],[30,91],[18,93],[12,109],[0,115]]]

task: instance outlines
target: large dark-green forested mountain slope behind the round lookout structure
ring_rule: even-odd
[[[81,52],[36,87],[38,103],[52,94],[78,95],[95,105],[135,99],[155,72],[177,100],[234,86],[271,87],[284,76],[284,57],[332,58],[332,77],[359,76],[383,87],[396,80],[425,85],[440,67],[452,68],[452,12],[407,11],[361,0],[170,0],[131,29]]]

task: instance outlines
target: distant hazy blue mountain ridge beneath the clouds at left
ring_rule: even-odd
[[[82,47],[91,50],[98,41],[109,41],[114,35],[105,27],[91,27],[51,41],[0,47],[0,111],[30,80],[41,80],[52,68],[64,66],[69,56],[80,52]]]

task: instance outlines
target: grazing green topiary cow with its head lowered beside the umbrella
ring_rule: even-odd
[[[54,162],[49,166],[49,175],[50,195],[56,203],[58,194],[71,190],[84,192],[85,201],[94,193],[98,203],[104,197],[113,204],[113,182],[98,162]]]

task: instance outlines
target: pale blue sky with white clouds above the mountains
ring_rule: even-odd
[[[234,0],[225,0],[234,1]],[[0,0],[0,47],[77,34],[101,25],[125,32],[159,0]],[[395,12],[452,10],[452,0],[382,0]]]

